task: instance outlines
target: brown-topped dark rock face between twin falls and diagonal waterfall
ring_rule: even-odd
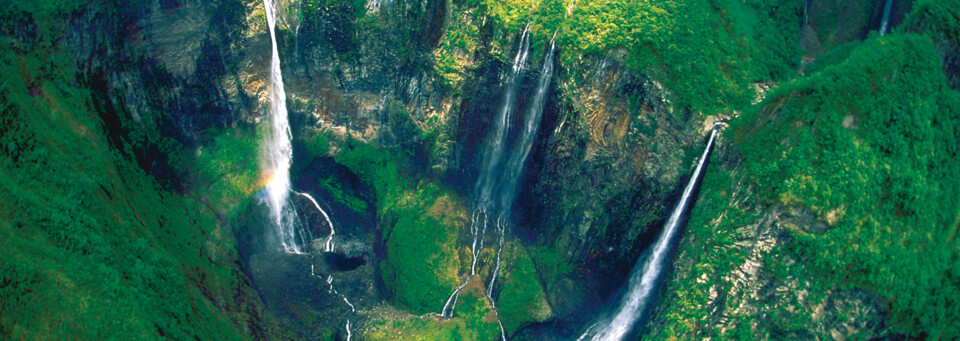
[[[553,304],[561,317],[622,284],[659,232],[705,136],[701,118],[673,108],[658,82],[617,57],[561,75],[559,103],[548,107],[552,116],[541,127],[515,210],[523,234],[590,270],[560,281],[566,290]]]

